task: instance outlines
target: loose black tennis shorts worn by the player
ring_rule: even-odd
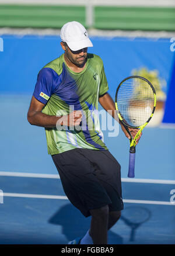
[[[120,164],[108,150],[75,148],[52,157],[65,194],[85,217],[105,205],[123,209]]]

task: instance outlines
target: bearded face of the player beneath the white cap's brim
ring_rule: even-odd
[[[85,61],[86,61],[86,57],[87,57],[87,51],[88,51],[88,47],[83,48],[81,50],[78,51],[72,51],[67,44],[63,44],[61,43],[62,49],[65,50],[65,56],[68,58],[69,61],[71,61],[73,64],[78,65],[78,66],[82,66]]]

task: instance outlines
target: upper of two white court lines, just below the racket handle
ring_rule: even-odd
[[[34,174],[34,173],[28,173],[28,172],[5,172],[5,171],[0,171],[0,176],[60,179],[60,176],[58,174]],[[136,183],[152,183],[152,184],[175,184],[175,181],[171,180],[171,179],[121,178],[121,181],[122,182],[136,182]]]

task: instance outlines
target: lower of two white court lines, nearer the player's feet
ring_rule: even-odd
[[[25,194],[25,193],[3,193],[3,196],[15,197],[15,198],[42,198],[42,199],[62,199],[68,200],[67,196],[56,196],[56,195],[36,195],[36,194]],[[153,201],[153,200],[130,200],[123,199],[124,203],[143,203],[148,205],[173,205],[175,202],[165,201]]]

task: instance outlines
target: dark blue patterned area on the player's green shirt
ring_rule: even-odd
[[[74,110],[83,110],[81,103],[79,102],[76,81],[74,78],[71,77],[64,63],[62,64],[62,72],[60,75],[58,75],[57,72],[55,72],[51,68],[43,68],[39,72],[33,96],[38,99],[38,101],[46,104],[47,100],[40,96],[41,92],[49,97],[52,94],[58,95],[62,99],[62,101],[65,101],[65,103],[67,103],[67,105],[74,105]],[[85,119],[86,117],[83,115],[82,123],[85,123],[85,129],[83,129],[82,127],[82,131],[85,135],[86,141],[89,144],[95,146],[96,148],[104,150],[103,147],[95,143],[95,141],[93,141],[90,137],[88,124],[86,122],[83,122],[83,120]],[[99,137],[101,139],[101,136]]]

